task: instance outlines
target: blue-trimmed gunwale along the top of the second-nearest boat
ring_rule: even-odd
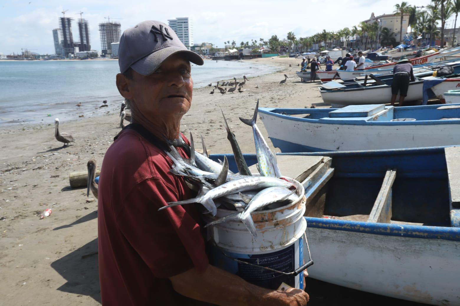
[[[380,103],[382,104],[382,103]],[[460,103],[451,104],[460,105]],[[435,104],[432,106],[445,106],[445,104]],[[400,106],[398,109],[403,110],[404,108],[411,108],[413,110],[426,108],[426,106]],[[307,122],[307,123],[316,123],[316,124],[337,124],[337,125],[375,125],[375,126],[404,126],[404,125],[438,125],[438,124],[460,124],[459,120],[416,120],[416,121],[366,121],[366,120],[321,120],[320,119],[309,119],[309,118],[299,118],[292,117],[288,115],[283,115],[280,113],[273,112],[273,110],[278,111],[290,111],[292,114],[295,114],[295,111],[299,111],[298,114],[307,114],[309,108],[276,108],[276,107],[259,107],[259,113],[270,115],[274,117],[279,117],[286,120],[298,121],[298,122]],[[310,108],[311,109],[311,108]],[[334,111],[338,108],[330,108],[331,111]],[[435,107],[433,107],[435,109]],[[294,111],[294,112],[293,112]],[[372,117],[372,116],[369,116]],[[365,118],[365,117],[363,117]]]

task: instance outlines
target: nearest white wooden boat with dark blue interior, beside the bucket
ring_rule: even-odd
[[[309,277],[404,300],[460,305],[460,147],[282,157],[297,158],[297,169],[304,164],[298,158],[321,157],[305,162],[302,180],[305,234],[315,262]],[[233,156],[227,159],[237,171]],[[257,162],[255,155],[245,159]],[[303,250],[307,261],[305,243]]]

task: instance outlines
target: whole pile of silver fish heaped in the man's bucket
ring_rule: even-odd
[[[206,209],[203,210],[203,213],[210,212],[215,216],[217,207],[222,206],[227,210],[236,212],[208,223],[206,227],[225,221],[239,220],[246,225],[254,239],[257,239],[257,231],[251,217],[253,211],[273,209],[286,205],[288,201],[298,200],[298,196],[295,195],[297,191],[295,186],[282,178],[275,154],[271,152],[257,127],[258,107],[259,100],[257,101],[253,118],[244,119],[240,117],[240,120],[253,128],[258,161],[257,168],[260,176],[253,176],[249,171],[240,147],[236,142],[236,137],[231,133],[222,112],[227,138],[230,140],[239,172],[233,173],[229,170],[226,157],[221,163],[209,159],[202,136],[203,154],[195,151],[191,133],[190,146],[181,138],[168,141],[169,150],[166,153],[174,162],[171,172],[183,176],[191,184],[192,188],[198,191],[198,194],[196,198],[190,200],[168,203],[167,206],[161,207],[160,210],[176,205],[200,203]],[[175,148],[177,146],[184,147],[190,159],[186,160],[180,156]]]

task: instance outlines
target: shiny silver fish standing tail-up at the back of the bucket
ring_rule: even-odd
[[[256,145],[256,156],[257,161],[259,163],[260,174],[263,176],[280,178],[282,174],[280,172],[280,169],[278,168],[278,164],[276,163],[276,158],[274,157],[273,153],[271,152],[270,148],[265,142],[265,139],[260,133],[259,128],[256,124],[258,108],[259,100],[257,100],[253,118],[249,120],[240,117],[240,120],[243,123],[253,127],[254,143]]]

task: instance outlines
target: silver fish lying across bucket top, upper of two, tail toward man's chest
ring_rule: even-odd
[[[237,179],[225,184],[220,185],[214,189],[207,191],[205,195],[197,196],[194,199],[183,200],[178,202],[170,202],[169,205],[161,207],[159,210],[189,203],[200,203],[205,206],[208,211],[210,211],[213,216],[217,213],[217,208],[214,204],[213,199],[219,198],[225,195],[234,194],[237,192],[253,190],[253,189],[262,189],[268,187],[285,187],[290,188],[292,184],[288,181],[279,178],[267,178],[267,177],[247,177]]]

